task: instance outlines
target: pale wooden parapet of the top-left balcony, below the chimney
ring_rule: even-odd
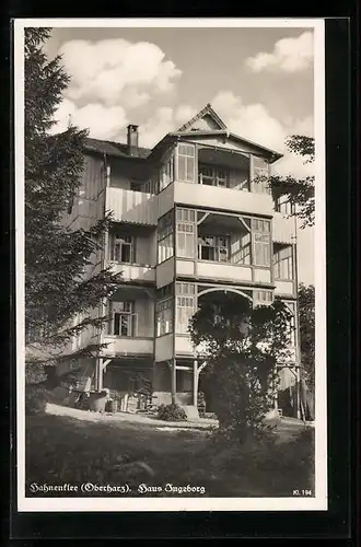
[[[130,222],[155,226],[158,196],[143,191],[106,188],[106,211],[113,211],[115,222]]]

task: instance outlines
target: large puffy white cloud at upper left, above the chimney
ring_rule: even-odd
[[[66,42],[59,54],[71,82],[71,101],[136,108],[156,93],[173,90],[182,71],[155,44],[125,39]]]

